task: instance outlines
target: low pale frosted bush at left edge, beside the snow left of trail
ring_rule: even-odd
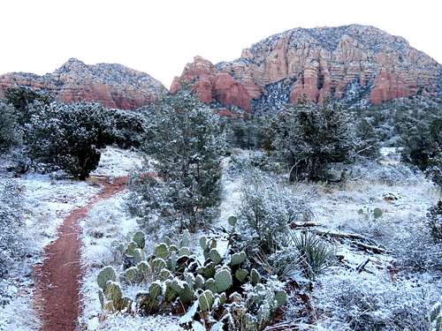
[[[23,188],[12,180],[0,182],[0,278],[25,252],[19,229],[23,222]]]

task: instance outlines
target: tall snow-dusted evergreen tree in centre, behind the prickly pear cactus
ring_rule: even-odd
[[[164,97],[154,109],[143,149],[156,160],[156,176],[133,178],[130,210],[194,231],[217,211],[225,136],[217,115],[190,91]]]

